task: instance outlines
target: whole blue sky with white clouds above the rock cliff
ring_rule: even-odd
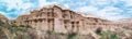
[[[52,3],[111,21],[132,18],[132,0],[0,0],[0,13],[11,20]]]

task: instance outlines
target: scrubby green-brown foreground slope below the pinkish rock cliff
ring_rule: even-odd
[[[91,15],[87,16],[95,17]],[[22,17],[26,17],[26,15],[16,20],[21,21]],[[132,23],[121,22],[121,24]],[[116,30],[103,30],[102,28],[110,26],[94,28],[95,30],[88,29],[88,35],[80,35],[78,32],[62,34],[55,31],[44,31],[32,28],[29,25],[16,25],[15,22],[12,23],[12,21],[0,14],[0,39],[132,39],[132,25],[119,26],[116,27]]]

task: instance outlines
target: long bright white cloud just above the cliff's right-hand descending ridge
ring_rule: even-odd
[[[91,14],[111,20],[111,21],[116,21],[116,20],[120,20],[120,18],[124,17],[124,16],[121,15],[121,12],[123,12],[123,10],[120,10],[118,8],[114,8],[114,6],[106,6],[102,10],[98,10],[98,8],[92,6],[92,5],[80,6],[79,9],[77,9],[77,11],[91,13]]]

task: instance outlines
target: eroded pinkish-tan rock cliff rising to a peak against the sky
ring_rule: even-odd
[[[26,15],[20,15],[12,23],[30,25],[41,37],[46,37],[45,32],[47,31],[54,31],[61,34],[77,32],[79,35],[92,34],[91,36],[99,38],[98,35],[94,34],[99,27],[102,30],[110,31],[117,31],[119,28],[122,29],[122,27],[132,27],[132,23],[112,22],[94,15],[81,14],[58,4],[35,9]]]

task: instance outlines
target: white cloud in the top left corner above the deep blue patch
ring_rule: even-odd
[[[29,8],[33,8],[35,4],[31,2],[23,2],[23,0],[2,0],[1,2],[7,3],[8,9],[7,11],[10,11],[12,9],[15,9],[16,11],[20,10],[26,10]]]

